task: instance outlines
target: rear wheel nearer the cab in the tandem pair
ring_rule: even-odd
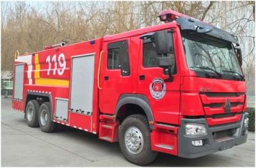
[[[56,123],[51,121],[51,107],[49,102],[42,103],[38,114],[38,123],[42,132],[50,133],[56,128]]]

